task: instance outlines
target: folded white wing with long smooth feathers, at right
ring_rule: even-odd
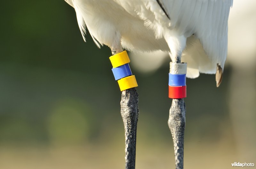
[[[212,65],[222,69],[227,58],[228,15],[233,0],[159,0],[170,17],[169,29],[190,37],[195,33]],[[157,18],[164,27],[161,19]],[[196,57],[190,55],[190,57]],[[202,57],[205,57],[202,56]],[[200,63],[199,63],[200,64]],[[198,65],[203,67],[203,65]],[[212,73],[212,66],[203,73]]]

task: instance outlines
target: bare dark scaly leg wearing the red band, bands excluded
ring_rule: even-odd
[[[180,59],[177,58],[173,62],[180,63]],[[184,99],[172,99],[168,126],[172,133],[176,169],[183,169],[185,115]]]

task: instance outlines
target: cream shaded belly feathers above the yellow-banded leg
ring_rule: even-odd
[[[147,29],[143,20],[132,16],[114,1],[69,0],[68,4],[76,10],[82,34],[86,26],[99,47],[102,44],[111,46],[121,40],[122,46],[129,51],[169,50],[165,40],[156,39],[154,31]]]

